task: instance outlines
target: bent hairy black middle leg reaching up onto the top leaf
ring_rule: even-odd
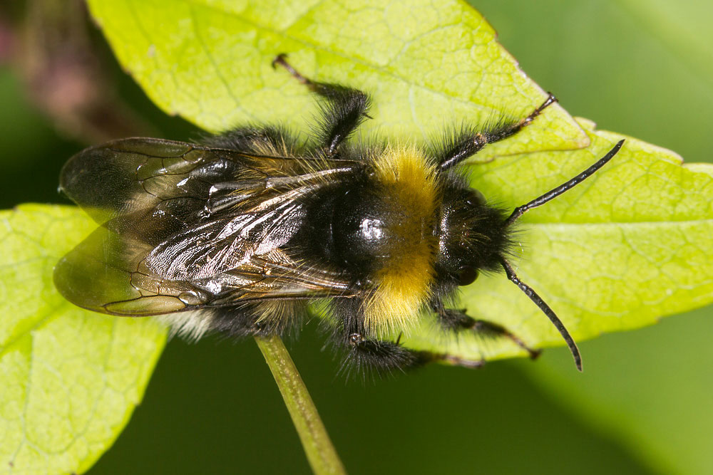
[[[342,145],[350,135],[359,127],[359,124],[368,118],[369,95],[361,90],[345,88],[342,85],[330,83],[317,83],[305,78],[297,72],[287,61],[286,55],[280,54],[272,61],[272,66],[282,66],[287,69],[295,79],[321,95],[327,104],[322,108],[323,120],[319,125],[319,141],[326,147],[329,155],[336,155],[339,145]]]

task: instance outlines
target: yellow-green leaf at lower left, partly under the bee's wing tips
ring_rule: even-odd
[[[0,212],[0,471],[86,471],[163,349],[153,321],[81,310],[55,290],[54,264],[94,226],[71,207]]]

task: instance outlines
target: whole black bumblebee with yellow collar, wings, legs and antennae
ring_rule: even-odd
[[[282,335],[309,303],[327,299],[331,338],[345,362],[377,371],[443,361],[388,335],[430,313],[447,333],[510,338],[506,328],[447,308],[478,273],[504,271],[573,338],[508,263],[523,213],[586,179],[620,150],[512,212],[468,186],[458,164],[533,122],[553,95],[520,120],[463,127],[431,145],[352,140],[369,118],[369,95],[302,76],[322,106],[316,137],[247,126],[201,145],[153,138],[116,140],[78,153],[61,190],[101,226],[54,271],[68,301],[111,315],[164,315],[178,333]]]

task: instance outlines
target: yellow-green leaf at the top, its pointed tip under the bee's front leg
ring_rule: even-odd
[[[167,113],[218,131],[246,122],[306,130],[317,106],[271,67],[278,53],[310,78],[374,98],[364,134],[424,140],[444,125],[523,117],[543,91],[461,1],[102,1],[91,13],[122,66]],[[586,136],[559,106],[488,155],[567,150]]]

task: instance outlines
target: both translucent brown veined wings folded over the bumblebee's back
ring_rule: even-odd
[[[56,286],[116,315],[351,295],[339,273],[299,261],[287,244],[304,198],[356,166],[156,139],[85,150],[61,188],[103,226],[61,259]]]

